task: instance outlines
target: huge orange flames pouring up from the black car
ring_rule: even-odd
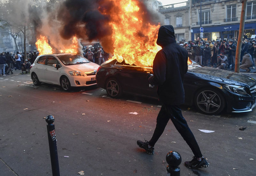
[[[114,19],[111,21],[112,40],[114,41],[114,56],[119,62],[137,66],[153,66],[156,53],[161,49],[156,44],[158,25],[145,24],[142,19],[142,10],[138,0],[115,0],[115,5],[120,7],[119,12],[110,14]]]

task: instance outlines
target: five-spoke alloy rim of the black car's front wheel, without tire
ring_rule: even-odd
[[[196,98],[197,106],[205,113],[214,113],[220,109],[220,96],[213,91],[205,90],[198,94]]]

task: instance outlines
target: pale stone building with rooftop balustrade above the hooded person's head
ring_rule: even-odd
[[[191,38],[189,32],[190,1],[159,6],[158,12],[163,15],[164,25],[173,26],[177,41],[181,41],[182,38],[188,41]]]

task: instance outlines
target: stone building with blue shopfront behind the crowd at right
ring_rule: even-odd
[[[242,3],[240,0],[202,0],[203,38],[206,40],[238,38]],[[200,37],[200,0],[191,3],[191,40]],[[248,0],[244,32],[247,37],[255,34],[256,1]]]

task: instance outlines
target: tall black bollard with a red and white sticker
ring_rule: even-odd
[[[48,133],[51,163],[52,163],[52,176],[60,176],[60,168],[59,168],[59,160],[58,160],[58,152],[57,152],[57,140],[56,140],[56,134],[55,134],[55,126],[53,124],[54,116],[48,115],[45,118],[45,121],[48,123],[46,126],[47,126],[47,133]]]

